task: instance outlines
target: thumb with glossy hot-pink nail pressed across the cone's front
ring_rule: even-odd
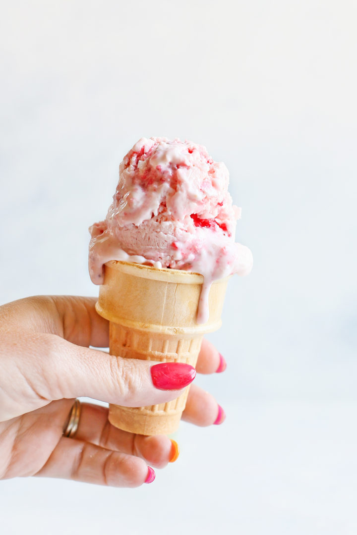
[[[44,362],[51,399],[86,396],[125,407],[155,405],[176,399],[196,375],[189,364],[122,358],[55,338],[58,347]]]

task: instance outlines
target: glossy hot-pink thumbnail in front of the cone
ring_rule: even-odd
[[[153,384],[159,390],[179,390],[192,383],[196,370],[189,364],[162,362],[151,366]]]

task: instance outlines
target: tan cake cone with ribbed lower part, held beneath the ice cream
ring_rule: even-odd
[[[110,322],[110,354],[195,366],[203,334],[221,326],[227,279],[213,282],[209,319],[197,324],[202,284],[203,276],[197,273],[117,261],[105,264],[96,310]],[[189,386],[176,400],[149,407],[110,404],[109,421],[132,433],[172,433],[179,425],[188,390]]]

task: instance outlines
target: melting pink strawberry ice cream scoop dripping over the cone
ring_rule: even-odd
[[[120,260],[201,273],[198,323],[208,319],[212,281],[246,275],[250,250],[234,242],[240,208],[229,173],[206,148],[165,137],[142,138],[124,157],[107,218],[89,231],[89,272],[103,284],[103,265]]]

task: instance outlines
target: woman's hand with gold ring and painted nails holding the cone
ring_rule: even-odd
[[[81,405],[75,439],[63,437],[79,396],[139,407],[182,392],[155,388],[152,362],[89,349],[109,343],[109,324],[97,315],[95,301],[41,296],[0,307],[0,479],[37,475],[135,487],[153,480],[148,464],[163,468],[177,456],[168,437],[116,429],[107,408],[89,403]],[[224,369],[222,356],[204,340],[196,370]],[[222,423],[224,412],[192,385],[183,419],[205,426]]]

